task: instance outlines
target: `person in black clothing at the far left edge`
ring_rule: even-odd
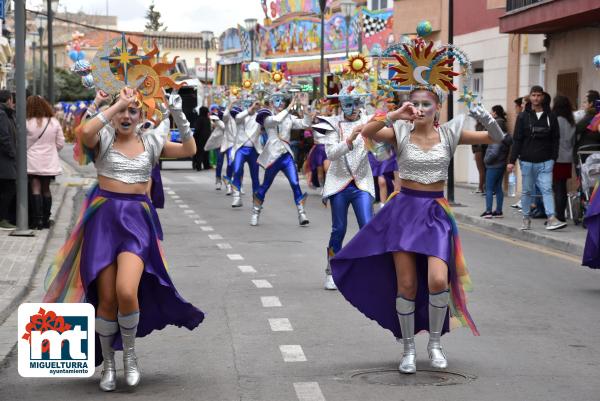
[[[0,90],[0,230],[14,230],[17,128],[12,93]]]

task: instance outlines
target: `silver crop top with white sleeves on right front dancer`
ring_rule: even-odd
[[[441,125],[438,129],[440,142],[427,151],[410,142],[412,123],[396,121],[394,133],[400,178],[421,184],[446,181],[448,166],[460,141],[465,118],[465,115],[460,115]]]

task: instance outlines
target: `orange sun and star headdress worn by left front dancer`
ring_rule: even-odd
[[[140,55],[138,45],[122,34],[121,38],[106,42],[96,54],[92,75],[95,85],[111,95],[117,95],[125,86],[137,89],[138,102],[146,118],[158,125],[168,109],[164,89],[178,90],[183,84],[175,82],[177,73],[169,74],[175,68],[177,57],[168,62],[166,55],[160,57],[156,40],[152,45],[150,49],[144,43],[144,54]]]

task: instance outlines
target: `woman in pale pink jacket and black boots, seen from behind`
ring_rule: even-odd
[[[27,176],[31,186],[31,226],[50,228],[52,193],[50,182],[62,167],[58,152],[65,145],[60,122],[52,106],[41,96],[27,98]]]

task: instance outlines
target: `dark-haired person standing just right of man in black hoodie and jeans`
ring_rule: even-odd
[[[573,106],[569,98],[556,96],[552,112],[558,119],[560,131],[558,159],[556,159],[552,173],[552,187],[554,188],[556,218],[565,221],[567,181],[571,178],[573,169],[573,145],[575,144],[575,120],[573,118]]]

